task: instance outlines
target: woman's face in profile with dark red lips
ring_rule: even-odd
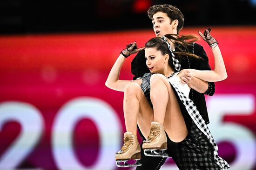
[[[161,73],[168,64],[168,54],[162,55],[156,48],[145,48],[145,58],[148,69],[151,73]]]

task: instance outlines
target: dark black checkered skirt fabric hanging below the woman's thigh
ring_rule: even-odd
[[[167,152],[179,170],[221,170],[213,159],[212,145],[195,123],[184,140],[169,142]]]

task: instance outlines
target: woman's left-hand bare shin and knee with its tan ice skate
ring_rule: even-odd
[[[141,159],[141,146],[137,138],[137,121],[140,119],[138,116],[140,115],[141,97],[143,96],[141,93],[143,92],[140,85],[134,82],[126,85],[124,90],[123,108],[127,132],[124,133],[124,144],[115,154],[116,165],[118,167],[141,166],[141,163],[138,161]],[[151,107],[149,106],[149,108]],[[153,119],[153,111],[149,111],[148,114],[149,113],[151,113]],[[145,119],[143,124],[147,124],[145,123],[146,120],[148,120],[150,124],[149,119]],[[144,127],[144,125],[142,125],[142,127],[147,128]],[[129,164],[127,162],[129,159],[136,161],[134,164]]]

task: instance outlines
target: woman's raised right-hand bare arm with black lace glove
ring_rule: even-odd
[[[215,62],[214,70],[204,70],[204,71],[195,70],[195,69],[187,69],[187,70],[191,72],[191,74],[196,78],[200,78],[204,81],[216,82],[216,81],[221,81],[226,79],[228,75],[227,75],[224,61],[222,58],[221,50],[218,46],[218,42],[216,41],[216,39],[214,39],[210,35],[209,31],[210,29],[205,30],[204,35],[202,35],[201,32],[198,32],[198,33],[212,48],[214,62]]]

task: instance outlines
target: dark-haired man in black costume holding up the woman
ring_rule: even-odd
[[[154,5],[148,10],[148,17],[152,20],[153,29],[156,37],[161,37],[166,34],[177,34],[182,29],[184,24],[184,17],[181,11],[172,5]],[[169,42],[172,50],[179,51],[178,48],[182,46],[176,46],[175,42]],[[193,58],[182,58],[181,59],[181,70],[185,68],[193,68],[197,70],[210,70],[208,63],[208,57],[199,44],[193,43],[189,47],[189,52],[194,53],[197,56],[202,57],[202,59],[193,59]],[[149,72],[149,69],[146,65],[145,51],[140,51],[132,63],[132,73],[134,74],[133,79],[141,78],[145,73]],[[212,96],[215,92],[215,85],[213,82],[205,82],[201,79],[195,78],[185,72],[182,76],[182,83],[186,83],[191,87],[189,98],[194,101],[197,106],[198,111],[202,114],[202,118],[207,124],[209,124],[209,118],[206,108],[206,102],[204,94]],[[138,128],[139,129],[139,128]],[[139,131],[140,132],[140,131]],[[141,137],[145,140],[146,137],[140,132]],[[172,148],[175,148],[179,143],[173,144],[168,143],[168,154],[172,157]],[[147,157],[144,155],[143,150],[141,150],[141,163],[142,166],[138,166],[136,170],[159,170],[163,163],[165,162],[166,157]],[[179,166],[179,160],[175,160],[177,166]]]

